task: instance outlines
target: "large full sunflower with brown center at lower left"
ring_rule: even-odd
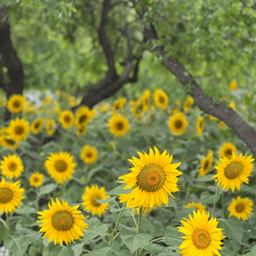
[[[88,228],[88,224],[84,222],[84,215],[80,215],[79,206],[69,207],[67,201],[62,203],[56,199],[48,203],[49,210],[38,212],[40,220],[38,223],[41,229],[39,232],[45,232],[48,241],[59,243],[65,241],[67,244],[73,242],[74,239],[80,239],[84,236],[82,230]]]

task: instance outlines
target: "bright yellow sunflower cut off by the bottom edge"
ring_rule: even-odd
[[[216,218],[209,219],[209,212],[193,212],[194,218],[189,214],[189,219],[181,220],[183,227],[177,227],[178,231],[183,233],[182,245],[179,247],[183,256],[189,255],[218,255],[218,250],[221,250],[223,244],[221,242],[224,239],[224,235],[221,230],[218,229],[218,221]]]

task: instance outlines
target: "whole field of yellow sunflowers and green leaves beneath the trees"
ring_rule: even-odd
[[[256,255],[255,160],[223,121],[160,89],[80,102],[1,98],[1,255]]]

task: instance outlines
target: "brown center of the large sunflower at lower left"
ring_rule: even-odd
[[[56,212],[51,219],[51,223],[55,230],[67,231],[73,227],[73,217],[70,212]]]

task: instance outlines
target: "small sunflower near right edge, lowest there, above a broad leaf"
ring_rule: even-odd
[[[232,198],[230,205],[228,207],[230,216],[236,216],[242,220],[246,220],[250,217],[253,212],[253,201],[249,198],[241,198],[239,195],[237,198]]]

